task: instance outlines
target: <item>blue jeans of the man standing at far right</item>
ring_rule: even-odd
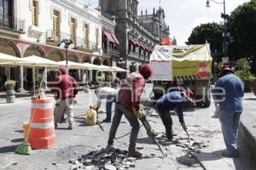
[[[232,153],[238,153],[237,150],[237,132],[240,122],[241,111],[219,111],[219,122],[221,124],[224,142],[227,150]]]

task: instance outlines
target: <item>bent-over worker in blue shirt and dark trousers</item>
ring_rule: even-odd
[[[192,92],[184,90],[183,88],[174,88],[172,87],[171,92],[163,95],[160,99],[157,100],[155,104],[155,109],[159,113],[164,126],[166,127],[166,137],[167,139],[173,139],[173,130],[172,130],[172,116],[170,114],[171,110],[177,112],[178,120],[181,123],[183,130],[186,131],[187,127],[183,118],[183,106],[187,101],[192,102],[191,95]]]

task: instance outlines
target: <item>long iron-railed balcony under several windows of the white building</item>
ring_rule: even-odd
[[[60,32],[59,34],[56,34],[53,30],[46,31],[46,42],[51,45],[59,45],[61,40],[72,37],[70,34],[67,34],[65,32]],[[95,51],[97,49],[96,42],[90,42],[85,40],[81,37],[74,37],[72,38],[74,47],[79,50],[85,50],[85,51]]]

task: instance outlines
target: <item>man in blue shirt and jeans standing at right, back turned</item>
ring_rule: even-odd
[[[238,157],[237,131],[242,111],[244,84],[236,77],[229,65],[224,65],[219,72],[219,79],[212,89],[212,97],[219,105],[219,122],[224,135],[226,150],[223,156]]]

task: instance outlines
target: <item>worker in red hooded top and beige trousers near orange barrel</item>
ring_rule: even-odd
[[[52,91],[56,94],[55,104],[55,128],[58,127],[59,122],[63,122],[64,114],[67,114],[68,129],[73,129],[73,105],[77,101],[74,99],[79,92],[78,83],[75,79],[67,74],[67,68],[61,66],[59,69],[59,76],[52,82]],[[62,120],[61,120],[62,119]]]

